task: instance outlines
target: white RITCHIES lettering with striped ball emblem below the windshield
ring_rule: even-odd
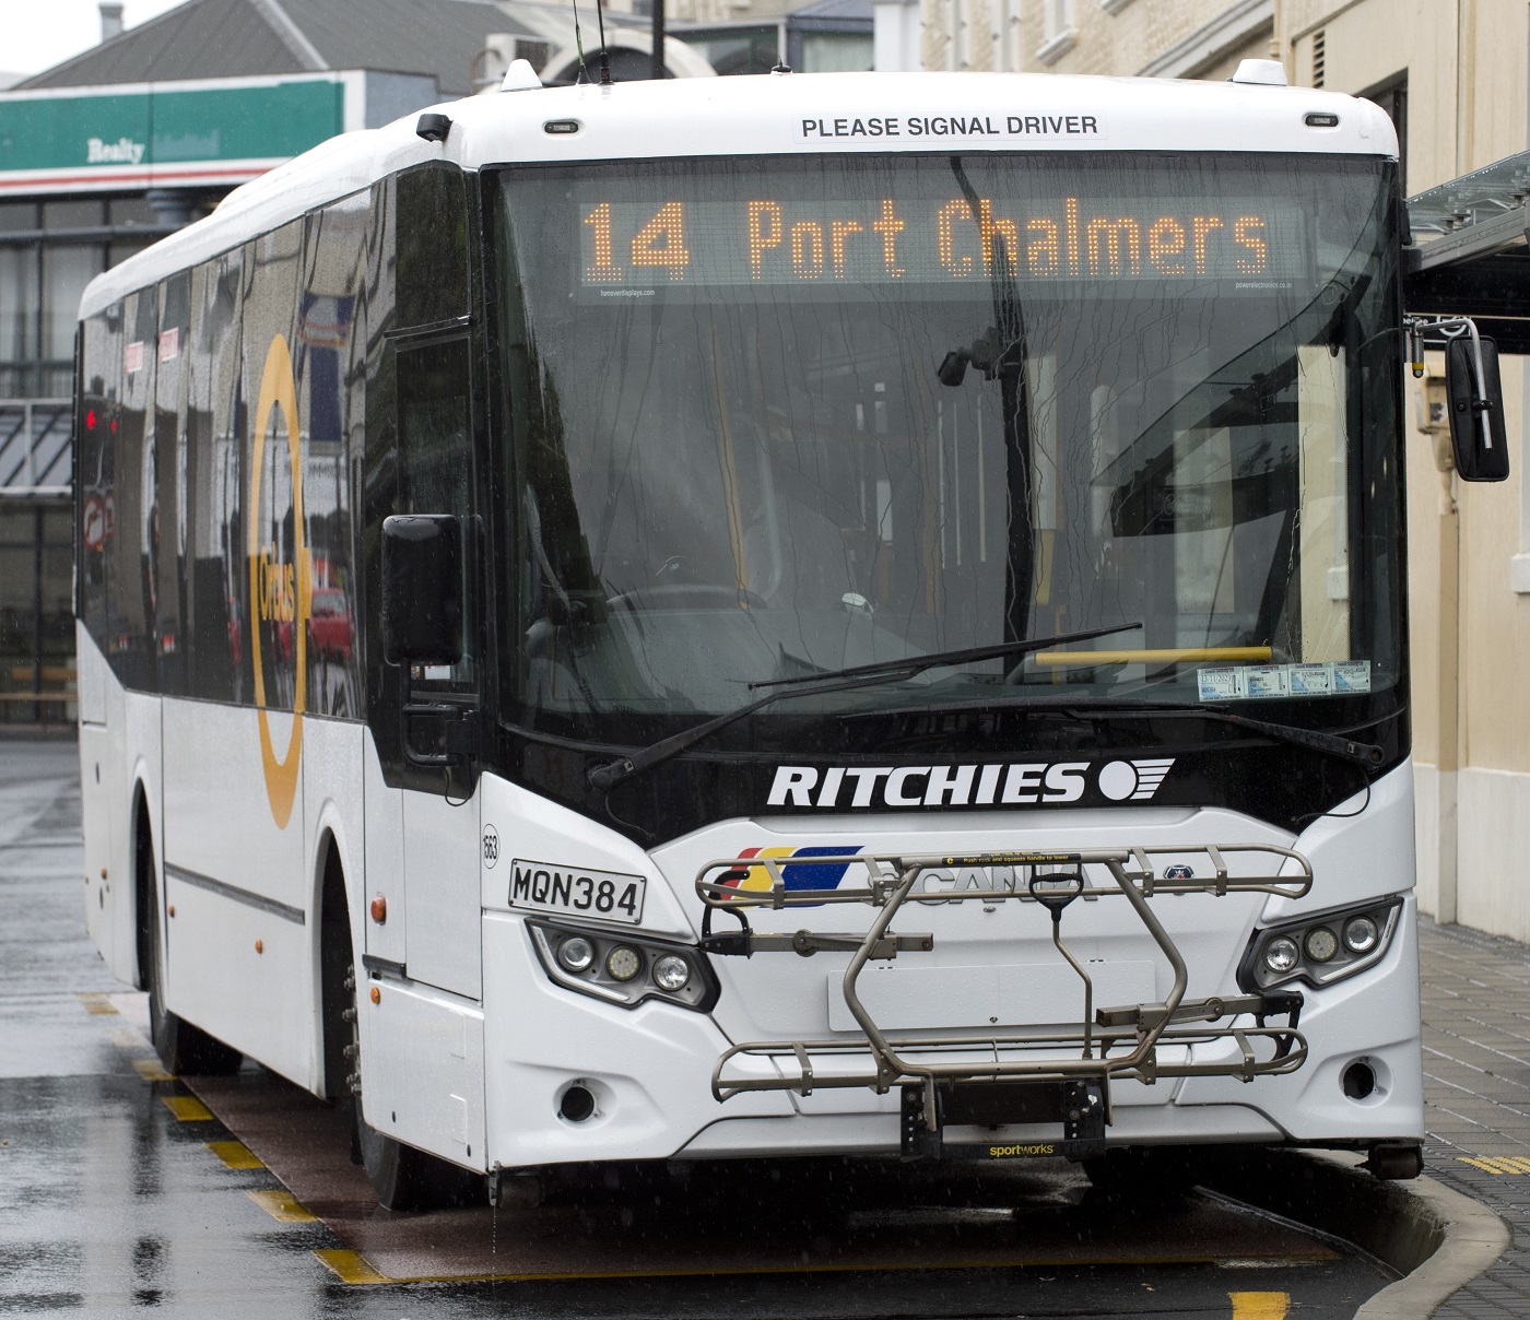
[[[915,806],[1060,806],[1097,800],[1151,801],[1174,757],[1143,760],[1004,762],[998,765],[777,766],[770,806],[845,811]]]

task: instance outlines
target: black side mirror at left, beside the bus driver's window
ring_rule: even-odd
[[[382,520],[382,659],[462,659],[462,526],[451,514]]]

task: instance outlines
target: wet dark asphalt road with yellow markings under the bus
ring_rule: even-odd
[[[0,1312],[1281,1320],[1385,1283],[1200,1196],[1102,1202],[1063,1162],[715,1164],[389,1214],[312,1098],[162,1077],[84,935],[73,775],[70,743],[0,742]]]

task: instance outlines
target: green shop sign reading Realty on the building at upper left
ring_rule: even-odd
[[[363,127],[366,73],[0,93],[0,196],[242,184]]]

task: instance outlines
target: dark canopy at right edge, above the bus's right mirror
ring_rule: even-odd
[[[1472,317],[1502,353],[1530,353],[1530,151],[1408,199],[1403,306]]]

